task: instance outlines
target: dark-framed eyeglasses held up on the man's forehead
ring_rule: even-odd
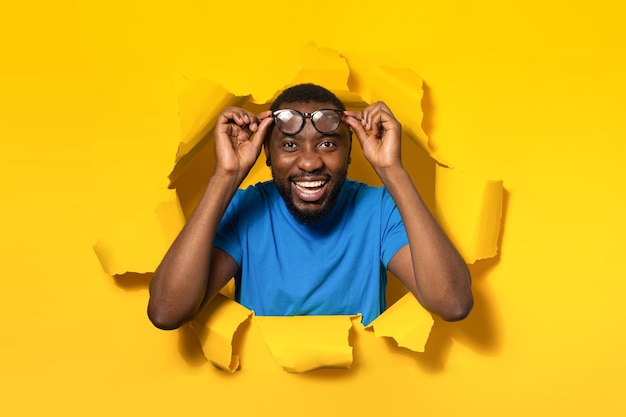
[[[283,109],[272,113],[276,127],[286,135],[295,135],[304,127],[306,119],[320,133],[332,133],[339,127],[343,110],[320,109],[312,113],[302,113],[298,110]]]

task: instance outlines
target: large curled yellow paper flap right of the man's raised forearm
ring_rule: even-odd
[[[441,166],[437,166],[435,178],[435,216],[465,262],[496,256],[502,181]]]

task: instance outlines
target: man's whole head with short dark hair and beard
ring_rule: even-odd
[[[301,223],[315,224],[337,202],[348,172],[352,145],[348,125],[339,121],[337,128],[329,131],[328,127],[334,124],[322,119],[316,123],[322,113],[315,112],[343,111],[344,104],[323,87],[300,84],[283,91],[270,109],[295,110],[290,115],[298,120],[296,127],[301,126],[296,133],[285,133],[275,120],[268,133],[265,154],[274,183],[293,216]],[[328,112],[324,117],[332,119],[337,115],[341,120],[341,112]]]

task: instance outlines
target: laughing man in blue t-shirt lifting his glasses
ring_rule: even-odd
[[[384,187],[346,179],[354,131]],[[387,270],[444,320],[469,314],[462,258],[401,160],[401,125],[382,102],[346,111],[313,84],[285,90],[269,111],[226,108],[216,167],[150,284],[148,315],[174,329],[235,277],[258,315],[363,314],[385,309]],[[264,147],[273,180],[238,190]]]

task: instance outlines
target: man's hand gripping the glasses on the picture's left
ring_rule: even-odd
[[[263,147],[271,112],[258,116],[239,107],[227,107],[215,126],[216,174],[236,175],[239,181],[248,175]]]

